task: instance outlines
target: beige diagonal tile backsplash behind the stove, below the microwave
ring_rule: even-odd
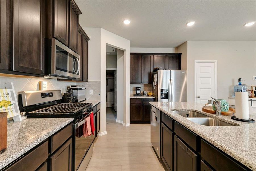
[[[47,82],[47,90],[60,89],[62,94],[65,93],[67,90],[67,87],[71,85],[84,85],[86,86],[87,100],[100,100],[100,81],[68,82],[68,81],[57,81],[56,79],[49,79],[49,78],[17,78],[17,77],[0,76],[0,88],[5,88],[5,83],[13,82],[15,93],[17,95],[19,91],[38,90],[39,81]],[[93,95],[89,95],[89,89],[93,90]]]

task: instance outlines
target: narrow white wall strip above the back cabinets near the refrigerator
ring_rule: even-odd
[[[131,53],[175,53],[176,48],[130,48]]]

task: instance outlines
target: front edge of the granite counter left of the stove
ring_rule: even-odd
[[[22,148],[22,149],[20,149],[16,152],[14,152],[13,154],[9,155],[7,158],[5,158],[5,160],[0,161],[0,170],[2,168],[4,168],[5,166],[7,166],[8,164],[10,164],[11,162],[13,162],[14,160],[16,160],[17,158],[24,155],[26,152],[28,152],[29,150],[31,150],[32,148],[37,146],[39,143],[43,142],[45,139],[47,139],[48,137],[50,137],[51,135],[53,135],[54,133],[56,133],[57,131],[59,131],[60,129],[62,129],[63,127],[65,127],[66,125],[68,125],[70,122],[72,122],[74,120],[74,118],[67,118],[67,119],[68,119],[67,121],[64,121],[58,127],[52,129],[51,131],[49,131],[45,135],[43,135],[41,137],[38,137],[32,143],[27,144],[26,146],[24,146],[24,148]]]

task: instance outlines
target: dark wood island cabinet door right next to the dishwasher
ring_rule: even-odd
[[[162,123],[161,125],[161,158],[166,168],[173,170],[173,138],[174,133]]]

